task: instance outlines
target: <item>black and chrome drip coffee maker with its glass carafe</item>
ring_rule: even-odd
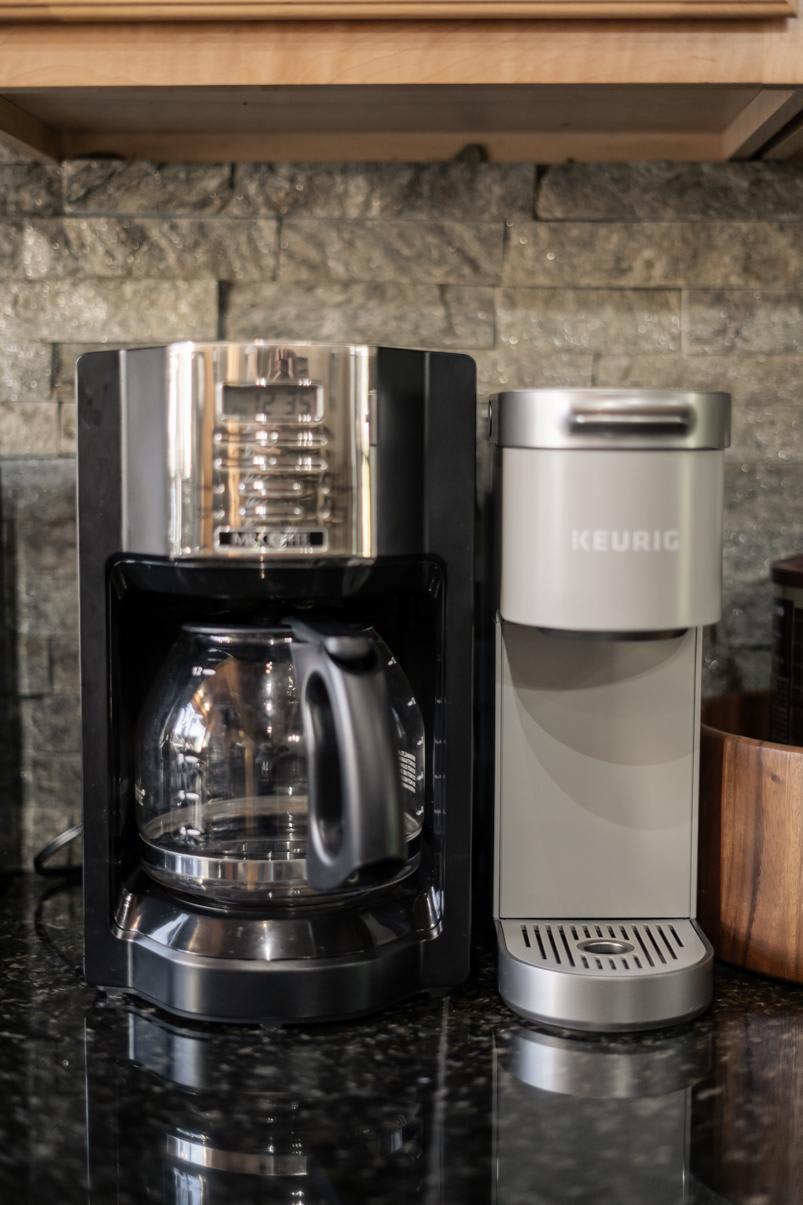
[[[86,972],[324,1019],[468,970],[475,372],[81,358]]]

